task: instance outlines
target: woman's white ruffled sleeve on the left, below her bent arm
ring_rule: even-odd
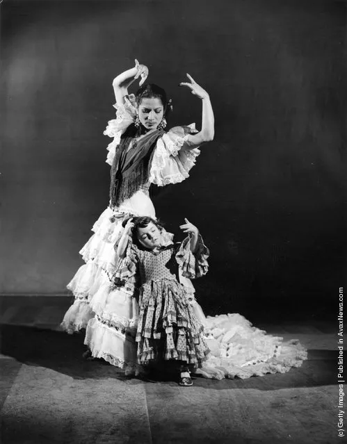
[[[127,127],[134,122],[136,117],[134,94],[125,97],[124,104],[115,104],[113,106],[117,110],[117,117],[116,119],[108,122],[104,131],[104,135],[108,135],[108,137],[113,138],[112,142],[107,147],[108,155],[106,158],[106,163],[108,163],[108,165],[112,165],[113,163],[115,150],[120,144],[120,136],[124,133]]]

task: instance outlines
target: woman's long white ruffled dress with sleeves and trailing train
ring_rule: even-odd
[[[124,106],[115,105],[117,118],[108,122],[105,135],[113,138],[108,145],[106,162],[112,165],[115,150],[122,133],[134,122],[136,109],[130,99]],[[136,329],[138,327],[138,302],[136,285],[131,278],[125,286],[115,288],[109,277],[115,273],[117,263],[114,245],[120,239],[122,222],[129,215],[147,215],[155,218],[149,197],[151,183],[165,186],[179,183],[189,176],[200,150],[184,149],[188,135],[196,132],[194,125],[177,126],[163,134],[156,143],[150,179],[134,196],[119,207],[108,207],[92,227],[94,234],[81,249],[85,264],[79,268],[67,288],[74,294],[74,303],[67,310],[61,326],[67,333],[86,329],[85,344],[92,356],[102,358],[124,368],[127,374],[141,371],[136,357]],[[190,304],[195,315],[204,325],[210,357],[200,375],[223,379],[248,378],[266,373],[287,372],[299,367],[307,359],[307,352],[298,340],[287,343],[282,338],[267,335],[239,314],[204,316],[194,297],[189,279],[179,280],[190,294]]]

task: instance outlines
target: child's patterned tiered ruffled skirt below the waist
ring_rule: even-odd
[[[138,363],[178,360],[199,367],[209,354],[201,322],[177,281],[161,279],[140,290]]]

